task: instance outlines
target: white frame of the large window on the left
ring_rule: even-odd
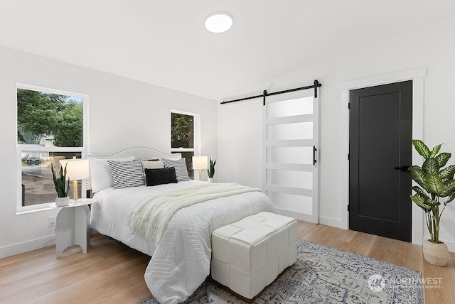
[[[84,155],[88,151],[88,102],[89,96],[87,94],[81,94],[76,92],[64,91],[60,89],[50,89],[47,87],[38,87],[36,85],[26,85],[23,83],[16,83],[16,105],[17,105],[17,90],[28,89],[32,91],[45,92],[50,94],[60,94],[72,97],[80,97],[82,101],[82,147],[44,147],[34,146],[30,144],[19,144],[16,138],[16,215],[21,213],[34,212],[39,210],[48,210],[50,202],[44,202],[42,204],[36,204],[31,206],[22,205],[22,153],[25,152],[80,152]],[[16,111],[16,128],[18,117]],[[56,194],[55,194],[56,195]],[[82,193],[83,195],[83,193]]]

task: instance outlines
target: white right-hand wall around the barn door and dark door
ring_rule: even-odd
[[[343,121],[340,109],[341,90],[339,85],[348,80],[372,77],[391,72],[427,67],[424,78],[424,141],[429,146],[445,143],[444,151],[454,153],[449,164],[455,164],[455,19],[428,23],[409,33],[380,41],[375,45],[358,45],[350,53],[337,58],[327,58],[323,63],[298,70],[272,83],[257,87],[252,93],[275,92],[281,89],[311,85],[315,79],[321,87],[321,185],[320,222],[341,227],[346,210],[346,197],[342,185],[347,176],[342,159]],[[336,45],[333,45],[336,48]],[[247,92],[245,92],[247,93]],[[238,104],[218,106],[219,170],[218,180],[240,181],[247,185],[260,185],[262,175],[262,99]],[[237,136],[229,131],[237,132]],[[223,140],[221,140],[223,139]],[[237,146],[241,145],[241,146]],[[235,149],[232,146],[237,146]],[[251,161],[245,155],[254,155]],[[260,159],[259,159],[260,158]],[[230,170],[234,165],[236,170]],[[218,165],[218,163],[217,163]],[[422,217],[423,219],[423,217]],[[455,251],[455,204],[447,207],[441,220],[440,237]],[[426,228],[425,228],[426,229]],[[427,234],[427,232],[425,231]]]

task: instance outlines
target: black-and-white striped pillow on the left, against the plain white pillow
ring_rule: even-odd
[[[110,161],[114,188],[131,188],[145,185],[141,161]]]

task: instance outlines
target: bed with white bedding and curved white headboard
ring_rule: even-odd
[[[144,236],[134,229],[132,222],[136,219],[138,210],[141,210],[144,203],[150,200],[149,197],[161,197],[176,192],[193,192],[193,189],[196,192],[198,189],[212,189],[210,187],[221,188],[223,184],[209,187],[207,182],[180,180],[178,183],[154,186],[114,188],[109,185],[100,189],[100,182],[105,180],[102,180],[103,176],[99,174],[100,172],[92,172],[92,166],[100,167],[99,163],[108,159],[178,160],[180,157],[179,154],[169,155],[147,147],[127,148],[104,155],[87,155],[90,160],[91,177],[86,188],[95,192],[92,197],[96,200],[92,204],[91,227],[101,234],[122,241],[151,256],[144,279],[151,293],[160,303],[180,303],[186,300],[209,275],[213,230],[237,222],[248,215],[255,215],[262,211],[274,212],[272,202],[267,195],[259,190],[247,190],[241,194],[217,196],[183,207],[168,220],[159,237]],[[95,165],[92,165],[93,163]],[[105,164],[102,171],[109,174]],[[114,172],[114,174],[117,173]],[[104,179],[109,178],[107,175],[104,175]],[[108,184],[105,183],[104,186]],[[228,187],[231,185],[227,184]]]

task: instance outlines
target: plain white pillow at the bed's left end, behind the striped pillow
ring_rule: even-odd
[[[128,158],[112,158],[112,161],[134,161],[134,156]],[[92,192],[98,192],[105,188],[114,187],[111,170],[107,159],[89,158],[90,180],[92,183]]]

